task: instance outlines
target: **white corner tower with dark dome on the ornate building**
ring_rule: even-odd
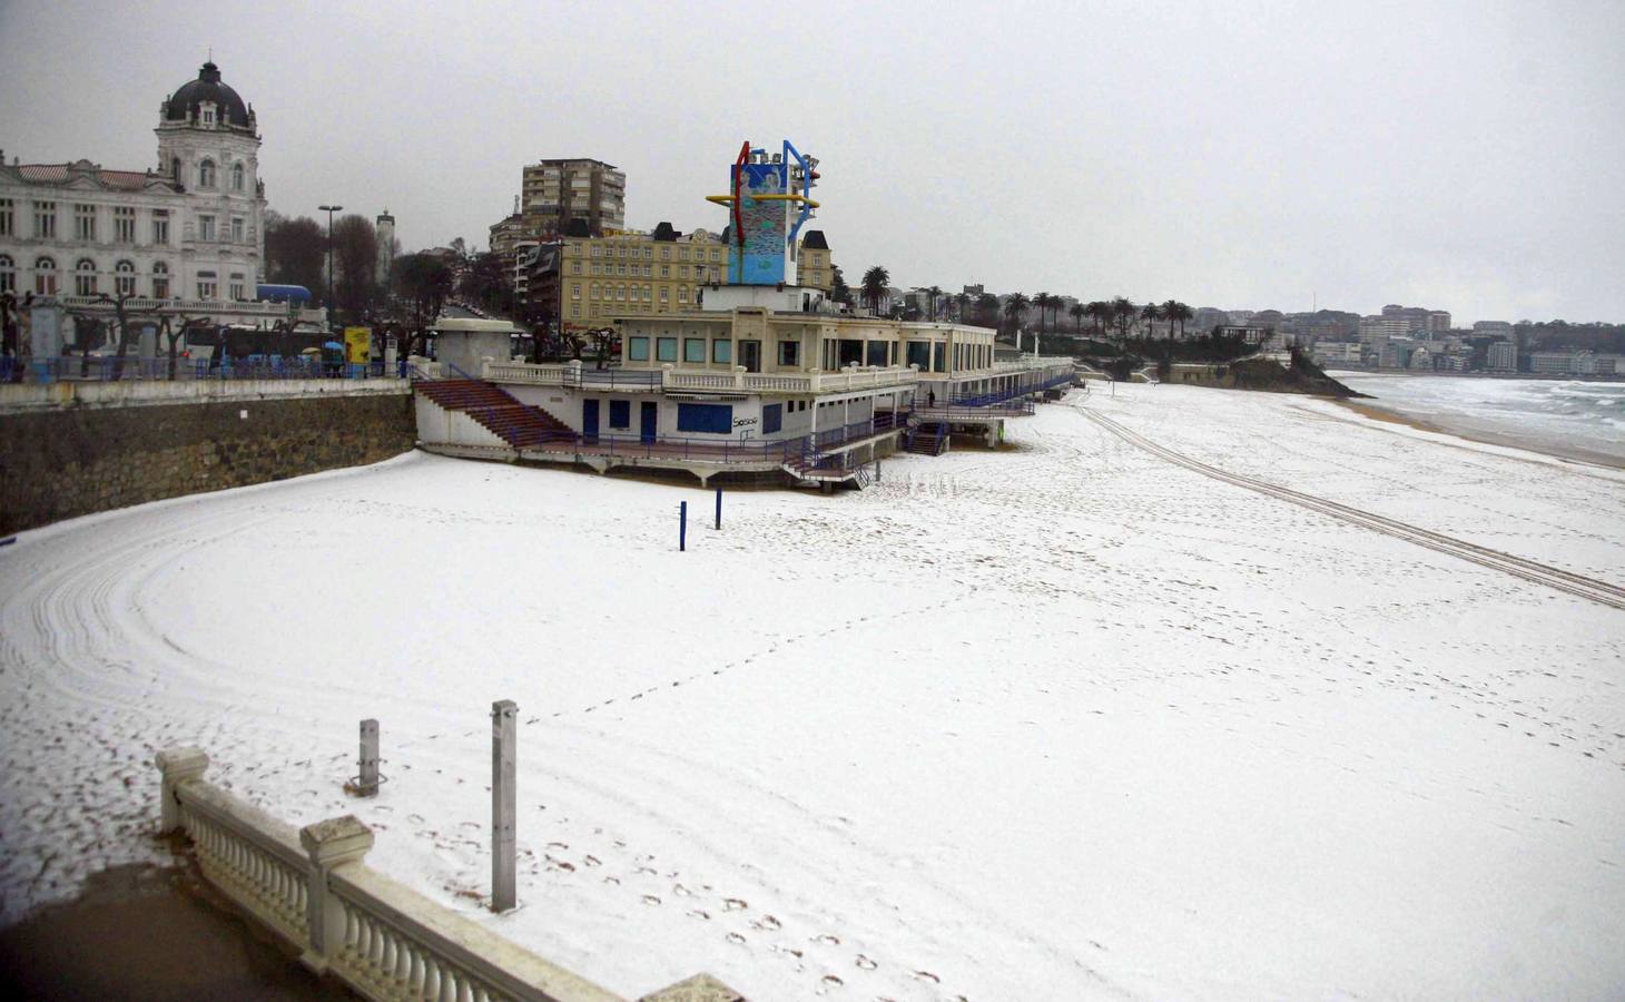
[[[203,63],[158,111],[158,169],[185,192],[171,228],[188,275],[182,298],[254,299],[263,278],[265,185],[254,106]],[[213,280],[213,291],[208,291]],[[240,286],[240,288],[239,288]]]

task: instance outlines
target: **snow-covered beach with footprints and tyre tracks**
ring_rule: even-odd
[[[429,455],[0,550],[6,919],[146,859],[151,753],[635,994],[1610,997],[1625,612],[1150,455],[1625,584],[1625,472],[1118,386],[863,493]],[[520,900],[479,909],[492,699]],[[341,792],[356,721],[390,782]]]

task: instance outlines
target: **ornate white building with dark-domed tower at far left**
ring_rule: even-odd
[[[133,296],[136,311],[218,324],[286,317],[286,304],[255,294],[265,184],[254,106],[206,62],[159,102],[154,132],[156,164],[133,171],[28,164],[0,151],[0,293],[55,296],[68,309]]]

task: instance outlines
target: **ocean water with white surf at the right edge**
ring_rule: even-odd
[[[1625,462],[1625,382],[1332,372],[1362,400],[1445,431]]]

